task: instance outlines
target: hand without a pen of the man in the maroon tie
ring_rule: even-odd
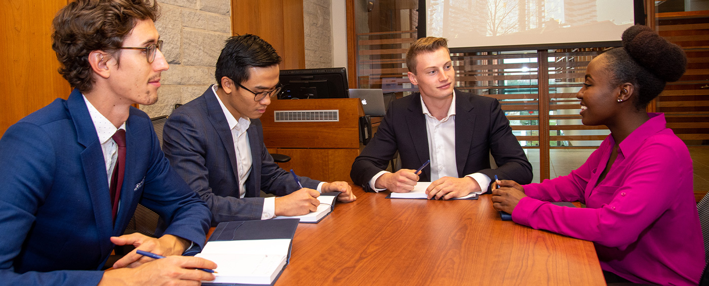
[[[133,251],[123,256],[123,258],[113,263],[113,268],[134,268],[143,263],[152,261],[152,258],[142,256],[136,251],[148,251],[161,256],[179,256],[190,245],[190,242],[180,237],[165,234],[156,239],[155,237],[145,236],[139,233],[125,234],[122,236],[112,236],[111,242],[116,245],[132,245],[135,246]]]

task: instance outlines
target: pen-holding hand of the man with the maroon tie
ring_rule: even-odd
[[[135,268],[104,272],[99,285],[200,285],[201,280],[214,280],[214,275],[195,268],[217,268],[216,263],[194,256],[147,259]]]

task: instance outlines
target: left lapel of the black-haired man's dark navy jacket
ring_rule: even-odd
[[[234,178],[239,181],[239,173],[236,161],[236,151],[234,150],[234,139],[231,136],[231,130],[229,129],[229,122],[226,121],[226,116],[224,115],[224,110],[222,110],[216,95],[212,91],[212,87],[207,88],[207,91],[203,94],[204,100],[207,105],[207,113],[209,114],[209,121],[214,126],[214,129],[219,135],[224,149],[229,156],[229,162],[234,173]]]

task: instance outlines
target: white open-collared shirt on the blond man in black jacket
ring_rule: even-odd
[[[455,91],[453,99],[448,108],[448,113],[445,118],[438,120],[430,114],[426,104],[421,99],[421,109],[426,118],[426,134],[428,135],[428,154],[430,155],[430,170],[431,181],[436,181],[443,177],[458,178],[457,162],[455,159]],[[388,171],[380,171],[369,180],[369,187],[376,192],[379,188],[374,188],[376,179],[389,173]],[[476,193],[485,193],[490,186],[491,179],[483,173],[471,173],[466,175],[473,178],[478,185],[480,191]]]

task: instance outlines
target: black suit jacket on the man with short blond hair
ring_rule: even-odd
[[[398,150],[401,168],[418,169],[430,159],[426,119],[421,108],[420,93],[413,93],[393,101],[381,120],[374,137],[354,159],[350,177],[364,190],[369,180],[384,170]],[[520,184],[532,182],[532,165],[520,143],[512,134],[510,121],[495,98],[455,91],[455,161],[458,178],[471,173],[484,173],[491,180],[514,180]],[[493,155],[498,166],[490,168]],[[419,181],[428,182],[429,164],[420,174]],[[488,188],[490,190],[490,188]]]

